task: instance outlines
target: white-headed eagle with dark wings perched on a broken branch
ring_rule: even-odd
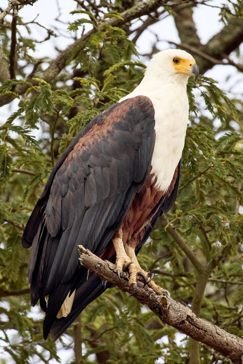
[[[152,274],[136,255],[162,213],[173,206],[188,122],[186,86],[199,68],[185,51],[168,49],[150,60],[133,92],[95,116],[52,170],[28,220],[22,245],[31,304],[46,316],[52,341],[109,286],[81,266],[78,245],[127,268],[133,294]]]

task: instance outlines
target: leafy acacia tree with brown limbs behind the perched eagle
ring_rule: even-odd
[[[58,157],[91,118],[136,87],[144,63],[159,51],[156,41],[141,58],[136,42],[151,25],[172,16],[181,40],[175,46],[195,57],[201,75],[188,83],[190,123],[177,201],[160,218],[138,259],[172,298],[203,320],[242,336],[243,107],[240,97],[224,93],[204,75],[216,64],[230,64],[240,77],[242,1],[219,6],[224,26],[202,44],[193,11],[199,4],[210,11],[216,6],[210,1],[73,0],[71,44],[48,60],[33,57],[39,43],[21,19],[22,9],[30,5],[35,16],[35,1],[8,3],[0,15],[0,106],[12,105],[0,127],[0,332],[5,353],[23,364],[62,362],[61,347],[74,348],[73,362],[85,364],[230,363],[213,345],[179,336],[115,288],[90,304],[57,344],[44,341],[43,314],[31,310],[28,296],[29,251],[20,242]],[[46,31],[43,42],[55,36]],[[35,138],[38,128],[41,136]]]

